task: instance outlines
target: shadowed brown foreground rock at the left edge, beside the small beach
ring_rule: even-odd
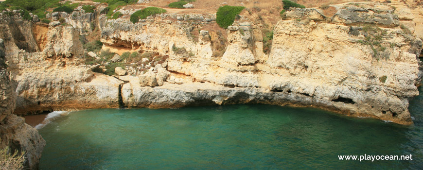
[[[13,114],[17,83],[9,78],[9,72],[4,65],[4,54],[3,40],[0,39],[0,148],[8,146],[12,151],[25,151],[25,166],[37,169],[46,142],[22,117]]]

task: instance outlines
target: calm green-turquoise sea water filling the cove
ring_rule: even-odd
[[[420,93],[423,93],[420,88]],[[41,170],[423,169],[423,96],[415,125],[311,108],[225,105],[72,112],[40,129]],[[413,155],[339,160],[337,155]]]

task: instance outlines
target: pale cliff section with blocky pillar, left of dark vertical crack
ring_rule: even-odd
[[[119,107],[119,85],[123,82],[93,73],[83,64],[78,34],[72,26],[50,24],[44,51],[20,50],[9,56],[18,82],[15,114]]]

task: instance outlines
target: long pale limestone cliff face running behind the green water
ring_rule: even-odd
[[[404,12],[386,4],[333,6],[337,13],[332,17],[315,9],[287,11],[275,25],[269,55],[263,52],[264,25],[245,16],[228,27],[226,51],[215,55],[212,14],[160,14],[136,24],[127,16],[106,20],[81,11],[54,14],[53,20],[65,17],[73,28],[53,22],[43,51],[14,51],[15,43],[6,51],[18,82],[15,113],[267,103],[411,124],[408,99],[418,95],[423,75],[418,60],[422,41],[413,34],[418,29],[403,26]],[[104,47],[169,58],[136,66],[144,70],[120,80],[94,74],[83,63],[78,41],[88,28],[83,21],[93,18],[98,18]]]

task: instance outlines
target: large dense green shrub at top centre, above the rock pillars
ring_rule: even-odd
[[[216,23],[224,28],[227,29],[229,25],[233,24],[235,21],[235,17],[241,13],[241,11],[245,7],[243,6],[222,6],[217,9],[216,13]]]

